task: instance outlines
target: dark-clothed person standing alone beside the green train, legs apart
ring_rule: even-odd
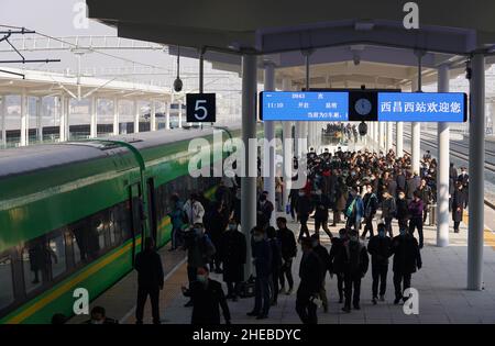
[[[135,323],[143,323],[144,304],[150,295],[153,324],[160,324],[160,290],[163,290],[164,272],[162,258],[155,250],[151,237],[144,239],[144,250],[135,256],[134,268],[138,270],[138,303]]]

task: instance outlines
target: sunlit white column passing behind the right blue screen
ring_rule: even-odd
[[[438,69],[438,92],[449,92],[449,66]],[[449,245],[449,123],[438,123],[437,246]]]

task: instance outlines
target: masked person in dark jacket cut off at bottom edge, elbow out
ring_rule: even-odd
[[[190,297],[194,308],[190,323],[193,325],[220,324],[220,309],[226,324],[230,324],[230,311],[222,284],[209,278],[208,267],[199,267],[197,280],[188,289],[183,287],[183,294]]]

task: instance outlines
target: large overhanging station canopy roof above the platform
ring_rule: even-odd
[[[242,54],[263,56],[276,65],[277,86],[282,77],[305,81],[307,51],[312,88],[405,87],[417,76],[418,52],[427,83],[441,64],[455,76],[470,54],[495,51],[493,0],[415,1],[417,30],[404,27],[406,1],[397,0],[86,1],[89,18],[119,36],[166,44],[172,54],[180,46],[182,56],[206,49],[217,69],[240,71]]]

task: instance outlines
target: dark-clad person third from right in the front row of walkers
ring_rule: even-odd
[[[351,312],[351,299],[354,310],[360,310],[361,279],[367,271],[370,258],[366,246],[360,242],[359,232],[350,232],[349,242],[344,243],[343,258],[345,302],[342,311]]]

